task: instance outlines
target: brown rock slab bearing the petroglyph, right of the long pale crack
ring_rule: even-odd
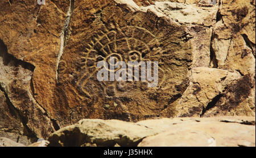
[[[55,107],[59,100],[64,104],[56,119],[137,121],[159,116],[170,97],[179,95],[174,86],[187,79],[191,47],[182,38],[185,28],[133,2],[113,1],[96,11],[93,20],[89,11],[81,15],[81,9],[73,12],[72,35],[58,67]],[[88,23],[82,23],[84,20]],[[158,87],[147,88],[147,82],[98,82],[98,60],[109,61],[113,56],[127,63],[133,55],[138,62],[159,61]]]

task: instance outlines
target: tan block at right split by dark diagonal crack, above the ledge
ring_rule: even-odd
[[[177,117],[255,116],[245,102],[255,84],[250,79],[237,71],[193,68],[188,88],[174,103],[178,107]]]

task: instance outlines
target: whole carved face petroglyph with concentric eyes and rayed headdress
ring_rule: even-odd
[[[101,107],[104,118],[121,118],[127,121],[141,119],[134,115],[134,111],[147,111],[148,113],[142,116],[144,118],[156,117],[173,102],[170,101],[172,96],[183,93],[178,91],[179,89],[176,90],[175,85],[185,80],[187,63],[190,61],[182,58],[187,52],[177,52],[178,44],[175,43],[174,47],[166,46],[161,39],[163,37],[159,38],[146,28],[134,25],[121,27],[115,23],[102,24],[100,29],[90,35],[86,37],[82,49],[73,53],[76,58],[70,59],[72,55],[64,54],[58,68],[59,84],[68,85],[65,89],[75,92],[76,97],[85,105],[83,107],[92,110],[88,113],[96,113],[93,109]],[[110,62],[112,58],[114,65]],[[126,63],[126,80],[116,79],[118,70],[121,70],[116,65],[119,61]],[[153,77],[155,61],[158,63],[158,84],[156,87],[150,87],[148,85],[154,84],[154,80],[143,78],[142,66],[145,63],[147,67],[147,63],[151,62],[150,73]],[[115,79],[110,79],[110,74],[109,79],[98,80],[97,74],[104,66],[97,67],[100,62],[107,63],[106,70],[108,74],[113,72]],[[137,66],[133,65],[131,78],[129,62],[139,63]],[[110,66],[115,69],[110,69]],[[135,75],[135,69],[139,69],[139,75]],[[175,71],[182,71],[184,76],[177,76]],[[138,109],[139,104],[141,107]]]

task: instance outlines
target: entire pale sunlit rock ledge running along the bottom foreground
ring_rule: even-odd
[[[137,123],[82,119],[49,146],[255,146],[255,117],[161,118]]]

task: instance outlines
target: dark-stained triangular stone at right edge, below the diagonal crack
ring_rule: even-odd
[[[255,116],[253,86],[255,86],[255,80],[249,75],[235,80],[220,99],[216,100],[214,107],[206,109],[204,116]]]

